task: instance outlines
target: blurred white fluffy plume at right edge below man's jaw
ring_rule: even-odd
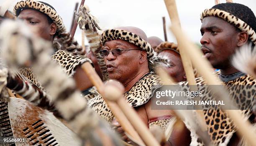
[[[232,64],[256,79],[256,46],[250,42],[240,47],[232,58]]]

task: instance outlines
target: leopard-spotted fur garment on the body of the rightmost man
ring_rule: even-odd
[[[219,72],[217,73],[217,75]],[[205,84],[204,79],[202,77],[196,78],[196,82],[198,85]],[[182,84],[187,84],[187,82],[183,82]],[[246,75],[235,80],[224,82],[225,85],[255,85],[256,79],[253,79],[250,75]],[[256,94],[255,88],[251,89],[240,89],[237,88],[228,88],[228,92],[234,101],[240,106],[246,107],[250,106],[253,103],[252,100],[253,94]],[[206,96],[202,97],[202,100],[212,99],[209,92],[204,93]],[[248,109],[251,109],[248,107]],[[252,114],[251,111],[243,110],[241,111],[243,114],[242,119],[248,119],[248,117]],[[236,127],[233,125],[231,119],[228,118],[228,115],[224,113],[222,110],[204,110],[205,122],[207,124],[208,134],[210,139],[215,145],[225,146],[229,143],[230,138],[236,132]],[[204,144],[200,140],[200,138],[195,133],[193,127],[189,126],[187,122],[184,122],[187,128],[191,131],[192,142],[191,146],[203,146]]]

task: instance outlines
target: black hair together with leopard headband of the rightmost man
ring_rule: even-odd
[[[256,44],[256,17],[249,7],[238,3],[221,3],[204,10],[201,21],[207,16],[219,17],[239,30],[248,32],[249,39]]]

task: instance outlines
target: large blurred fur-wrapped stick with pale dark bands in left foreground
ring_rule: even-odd
[[[115,145],[120,145],[99,116],[87,107],[87,101],[76,89],[74,80],[67,77],[56,62],[51,61],[51,45],[33,36],[20,21],[5,21],[0,31],[3,62],[11,69],[32,66],[43,87],[51,95],[49,101],[53,102],[80,138],[90,142],[90,145],[102,145],[103,141],[99,141],[100,133],[110,138]]]

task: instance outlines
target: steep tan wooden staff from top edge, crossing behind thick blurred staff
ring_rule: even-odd
[[[180,27],[180,21],[179,21],[179,15],[178,15],[178,11],[177,11],[177,7],[176,7],[176,2],[175,0],[164,0],[167,11],[169,13],[169,17],[172,21],[172,24],[177,23]],[[178,42],[178,46],[179,46],[179,53],[180,53],[180,57],[182,59],[182,64],[184,67],[184,71],[186,73],[187,76],[187,81],[189,83],[189,85],[195,85],[195,75],[194,75],[194,70],[192,67],[192,63],[190,58],[187,56],[187,52],[185,52],[184,48],[182,48],[182,46],[179,45]]]

